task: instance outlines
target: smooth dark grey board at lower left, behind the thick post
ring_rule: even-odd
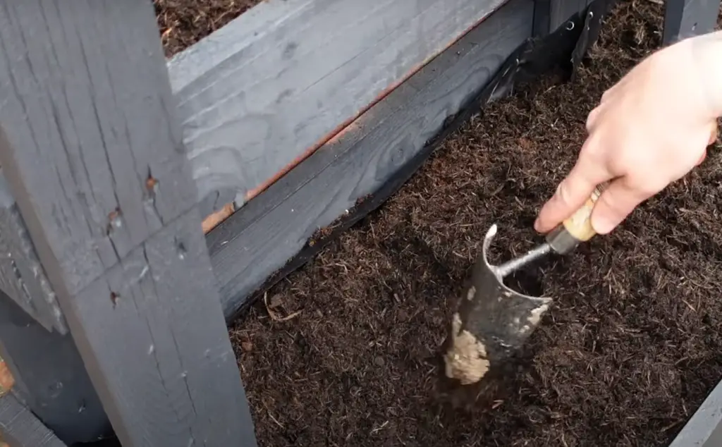
[[[112,435],[70,334],[45,330],[1,293],[0,357],[15,379],[15,396],[62,441],[72,445]]]

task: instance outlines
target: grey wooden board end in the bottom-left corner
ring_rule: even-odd
[[[12,394],[0,397],[0,446],[66,447],[29,409]]]

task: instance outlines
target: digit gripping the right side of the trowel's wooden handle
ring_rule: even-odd
[[[609,183],[594,205],[591,226],[600,235],[614,230],[636,207],[664,188],[632,184],[630,178],[620,177]]]

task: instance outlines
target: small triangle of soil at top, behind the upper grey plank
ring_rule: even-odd
[[[153,0],[165,56],[170,57],[264,0]]]

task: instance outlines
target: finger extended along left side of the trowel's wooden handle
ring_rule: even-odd
[[[557,186],[554,196],[541,207],[534,229],[539,233],[548,233],[581,207],[599,183],[609,178],[611,175],[606,169],[593,165],[589,157],[580,157],[569,175]]]

